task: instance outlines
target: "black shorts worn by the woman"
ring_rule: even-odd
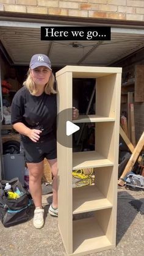
[[[26,163],[40,163],[44,158],[57,158],[56,138],[46,138],[41,142],[21,142],[21,151],[24,151]]]

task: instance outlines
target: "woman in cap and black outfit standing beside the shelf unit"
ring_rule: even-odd
[[[34,227],[44,225],[44,209],[41,202],[41,177],[43,159],[47,158],[53,175],[52,204],[49,213],[58,216],[57,205],[57,150],[56,150],[56,90],[51,62],[45,54],[31,58],[27,79],[12,101],[13,128],[21,134],[27,167],[29,189],[34,200]],[[73,109],[73,119],[78,110]]]

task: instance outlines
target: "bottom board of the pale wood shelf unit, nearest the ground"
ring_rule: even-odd
[[[73,221],[73,255],[89,255],[112,247],[95,217]]]

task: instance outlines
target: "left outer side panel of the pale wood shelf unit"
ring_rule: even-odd
[[[71,73],[57,78],[57,113],[72,107]],[[72,115],[72,112],[71,112]],[[59,231],[67,254],[73,252],[72,236],[72,137],[66,136],[66,122],[70,120],[70,111],[57,119],[57,164],[58,172],[58,203]],[[63,141],[63,145],[60,144]],[[67,147],[69,145],[71,147]]]

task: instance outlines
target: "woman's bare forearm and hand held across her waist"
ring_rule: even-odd
[[[31,139],[33,142],[37,142],[40,139],[39,134],[42,132],[40,130],[30,129],[21,122],[14,123],[13,128],[18,131],[18,133],[29,137],[29,139]]]

